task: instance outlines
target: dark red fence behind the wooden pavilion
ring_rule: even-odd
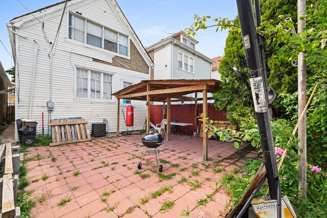
[[[198,115],[202,113],[203,105],[198,104]],[[150,122],[154,125],[160,124],[163,118],[162,116],[162,105],[151,105],[150,107]],[[184,105],[171,105],[171,120],[176,120],[179,123],[190,123],[193,126],[188,126],[188,131],[196,132],[196,126],[201,125],[198,120],[198,124],[194,126],[194,116],[195,116],[195,105],[194,104],[184,104]],[[225,111],[218,111],[215,109],[213,104],[208,104],[208,114],[207,117],[214,120],[225,120],[228,121]],[[183,128],[182,128],[183,129]],[[181,129],[181,130],[182,130]]]

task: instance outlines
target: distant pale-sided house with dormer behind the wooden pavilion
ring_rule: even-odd
[[[197,40],[180,31],[148,46],[147,52],[154,61],[153,79],[212,79],[211,65],[215,62],[196,50],[197,43]],[[194,94],[190,96],[195,97]],[[202,98],[202,93],[198,93],[198,98]]]

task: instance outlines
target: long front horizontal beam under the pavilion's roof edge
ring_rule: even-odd
[[[159,90],[153,90],[153,91],[143,91],[133,94],[124,94],[119,95],[120,99],[124,98],[134,98],[137,96],[146,96],[146,95],[155,95],[155,94],[170,94],[170,93],[178,93],[178,92],[188,92],[188,91],[198,91],[206,89],[207,85],[194,85],[194,86],[185,86],[185,87],[178,87],[178,88],[168,88],[168,89],[159,89]]]

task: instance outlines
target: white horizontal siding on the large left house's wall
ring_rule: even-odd
[[[124,26],[117,17],[116,12],[113,12],[114,7],[111,1],[95,0],[84,5],[86,1],[80,1],[74,9],[82,13],[83,16],[89,18],[95,23],[100,23],[108,30],[113,30],[116,33],[122,33],[128,36]],[[82,6],[81,6],[82,5]],[[59,7],[59,6],[58,6]],[[45,9],[46,10],[46,9]],[[62,11],[48,14],[42,19],[44,21],[44,29],[46,35],[52,39],[55,38],[58,23],[60,22]],[[33,102],[31,108],[31,119],[39,124],[42,123],[41,115],[44,113],[44,120],[82,117],[88,122],[91,130],[91,124],[102,122],[103,118],[108,120],[108,131],[116,131],[116,116],[117,102],[112,92],[119,91],[123,88],[122,81],[128,81],[133,84],[139,83],[142,80],[148,80],[149,75],[142,72],[133,71],[131,69],[115,67],[108,64],[92,61],[92,58],[107,61],[112,63],[114,56],[119,56],[119,53],[110,53],[104,49],[99,49],[96,46],[91,46],[86,41],[77,42],[73,39],[68,39],[69,29],[75,27],[68,26],[68,13],[63,16],[61,30],[58,40],[56,40],[56,49],[53,50],[52,56],[52,72],[50,75],[50,53],[49,44],[44,41],[43,33],[40,28],[40,23],[29,25],[26,28],[16,29],[19,35],[26,36],[28,39],[16,37],[16,53],[17,53],[17,70],[19,74],[16,77],[17,93],[19,102],[16,101],[17,113],[16,117],[28,117],[30,96],[31,96],[31,78],[34,62],[35,42],[30,39],[35,39],[38,42],[38,52],[36,61],[35,84]],[[86,23],[84,23],[86,25]],[[106,29],[107,29],[106,28]],[[75,31],[76,33],[76,31]],[[82,39],[85,39],[83,33]],[[76,35],[75,35],[76,37]],[[117,37],[117,40],[119,38]],[[130,38],[128,38],[128,46]],[[128,52],[129,53],[129,52]],[[122,55],[120,55],[122,56]],[[85,68],[84,68],[85,67]],[[104,72],[102,83],[103,99],[77,98],[77,68],[87,71]],[[107,75],[107,76],[105,76]],[[131,76],[132,75],[132,76]],[[83,75],[84,76],[84,75]],[[50,79],[51,78],[51,79]],[[87,77],[86,77],[87,78]],[[85,79],[86,79],[85,78]],[[52,84],[51,86],[49,84]],[[85,83],[88,85],[88,83]],[[50,94],[51,87],[51,94]],[[83,86],[80,86],[83,93]],[[106,87],[106,88],[105,88]],[[87,89],[85,89],[85,93]],[[87,95],[85,98],[88,98]],[[89,97],[90,98],[90,97]],[[44,105],[51,99],[55,103],[54,111],[48,113]],[[107,100],[107,101],[105,101]],[[133,102],[133,101],[132,101]],[[143,128],[146,118],[146,105],[144,101],[135,101],[134,106],[134,130]],[[51,117],[50,117],[51,116]],[[45,134],[51,134],[51,128],[45,126]],[[120,131],[126,131],[124,117],[120,116]],[[37,125],[37,132],[42,132],[42,125]]]

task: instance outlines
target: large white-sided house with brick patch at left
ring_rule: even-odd
[[[42,112],[46,133],[51,119],[68,117],[85,118],[89,128],[105,118],[114,132],[117,103],[111,93],[149,79],[152,60],[114,0],[57,3],[16,17],[7,27],[16,66],[16,118],[36,120],[38,132]],[[134,129],[142,129],[146,106],[131,103]]]

